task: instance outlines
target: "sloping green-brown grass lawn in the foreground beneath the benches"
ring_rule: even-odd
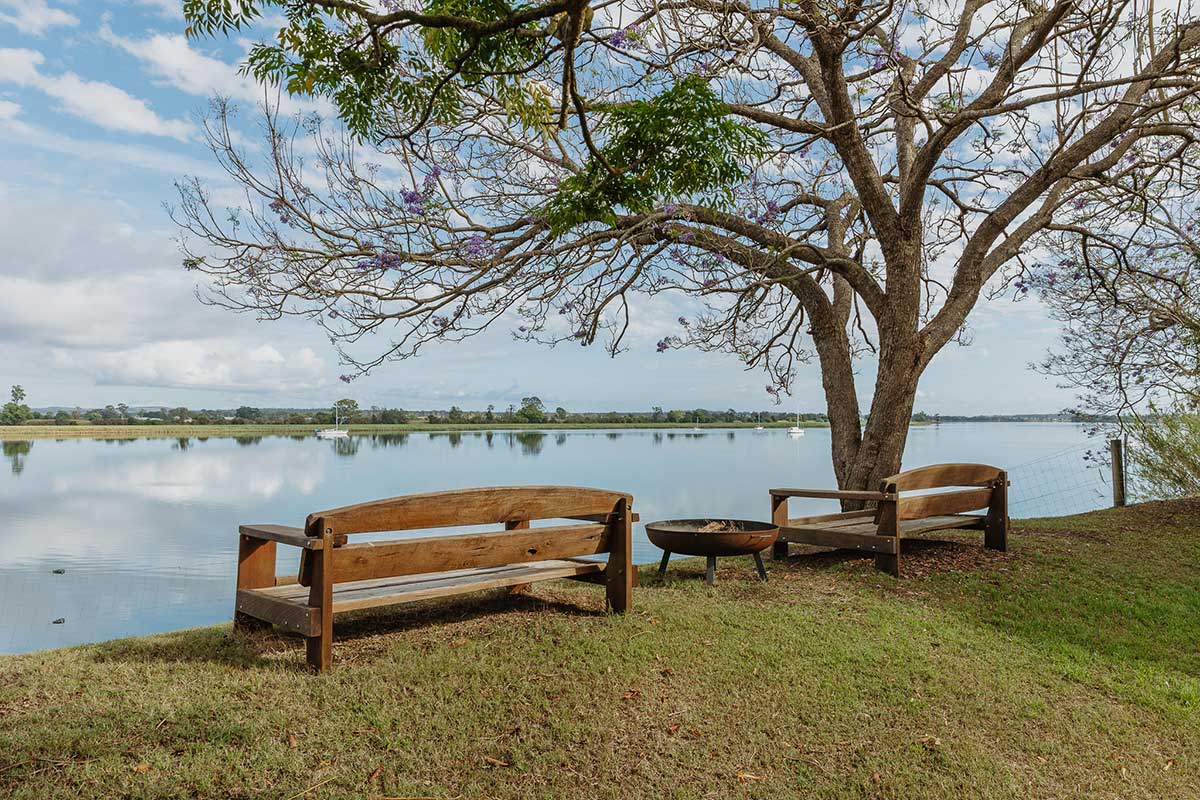
[[[1195,798],[1200,501],[0,658],[5,798]],[[968,543],[964,543],[968,542]],[[770,566],[770,565],[768,565]]]

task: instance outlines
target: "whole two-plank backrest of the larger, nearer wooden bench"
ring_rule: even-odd
[[[503,523],[505,530],[334,547],[335,583],[629,552],[632,497],[571,486],[500,486],[409,494],[308,515],[305,533],[334,541],[353,534]],[[538,519],[583,524],[530,528]],[[312,557],[299,581],[311,585]]]

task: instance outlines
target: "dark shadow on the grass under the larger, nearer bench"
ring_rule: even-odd
[[[596,607],[584,596],[580,596],[578,602],[575,600],[499,590],[349,612],[334,619],[334,663],[362,649],[356,644],[409,631],[427,630],[449,636],[464,624],[517,624],[530,614],[604,616],[602,589]],[[96,645],[95,658],[100,663],[211,662],[240,668],[287,666],[307,669],[304,651],[305,639],[298,634],[277,630],[235,632],[230,625],[223,625],[118,639]]]

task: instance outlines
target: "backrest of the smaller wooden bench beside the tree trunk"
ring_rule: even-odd
[[[955,487],[952,492],[935,492],[901,497],[901,492]],[[992,510],[1007,494],[1008,474],[988,464],[930,464],[883,479],[880,491],[894,494],[895,518],[925,519],[942,515],[965,513],[980,509]],[[884,512],[881,504],[880,511]]]

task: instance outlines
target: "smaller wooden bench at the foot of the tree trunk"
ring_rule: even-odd
[[[949,492],[901,495],[916,489]],[[860,511],[790,518],[791,498],[828,498],[869,504]],[[983,513],[967,513],[985,510]],[[770,518],[779,525],[774,558],[790,542],[875,553],[875,566],[900,577],[900,542],[934,530],[984,531],[984,546],[1008,549],[1008,474],[986,464],[932,464],[884,479],[878,492],[772,489]]]

